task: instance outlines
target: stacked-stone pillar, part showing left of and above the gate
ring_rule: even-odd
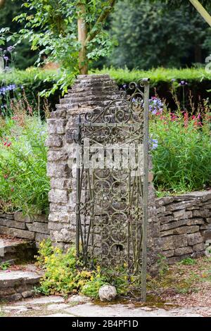
[[[63,249],[75,242],[76,170],[72,163],[76,158],[74,133],[78,115],[105,107],[118,94],[109,75],[79,75],[48,120],[49,230],[52,242]]]

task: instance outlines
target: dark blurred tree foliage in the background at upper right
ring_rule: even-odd
[[[127,65],[130,70],[178,68],[202,63],[209,55],[211,30],[188,1],[177,8],[164,1],[137,2],[118,1],[115,6],[110,33],[118,45],[105,59],[106,65]]]

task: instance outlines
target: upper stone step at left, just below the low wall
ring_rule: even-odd
[[[18,264],[33,261],[36,253],[35,243],[32,241],[0,237],[0,265],[6,262]]]

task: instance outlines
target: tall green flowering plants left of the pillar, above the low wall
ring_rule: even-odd
[[[27,99],[11,101],[12,117],[0,117],[0,209],[47,213],[46,123]]]

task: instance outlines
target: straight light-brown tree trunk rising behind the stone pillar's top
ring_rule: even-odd
[[[82,11],[84,9],[82,8]],[[81,13],[82,13],[81,11]],[[88,74],[88,58],[87,58],[87,48],[85,40],[87,39],[87,26],[83,18],[78,18],[77,20],[77,29],[78,29],[78,41],[81,43],[82,48],[79,51],[79,74],[87,75]]]

